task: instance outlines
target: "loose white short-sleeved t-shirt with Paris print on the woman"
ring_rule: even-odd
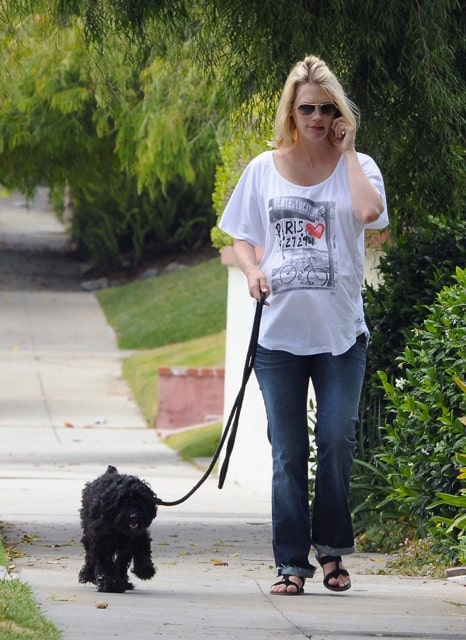
[[[264,306],[259,344],[296,355],[347,351],[364,320],[364,228],[388,224],[382,175],[358,153],[364,173],[383,198],[377,222],[361,224],[353,214],[343,156],[326,180],[303,187],[278,172],[273,151],[244,170],[219,227],[233,238],[263,247],[260,268],[271,288]]]

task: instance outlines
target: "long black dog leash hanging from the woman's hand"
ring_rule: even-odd
[[[254,359],[256,357],[257,341],[259,338],[259,327],[260,327],[264,302],[265,302],[265,294],[261,293],[260,300],[256,305],[256,312],[254,315],[254,322],[252,325],[251,338],[249,340],[248,351],[247,351],[246,360],[244,363],[241,388],[233,403],[233,407],[230,411],[227,424],[223,431],[220,442],[217,446],[217,450],[215,451],[208,468],[206,469],[202,478],[182,498],[179,498],[178,500],[173,500],[173,501],[166,501],[166,500],[161,500],[160,498],[157,498],[156,502],[158,505],[161,505],[163,507],[175,507],[176,505],[182,504],[183,502],[186,502],[186,500],[190,498],[193,495],[193,493],[195,493],[199,489],[199,487],[201,487],[204,484],[204,482],[212,473],[213,468],[215,467],[215,464],[220,456],[220,452],[223,448],[223,445],[225,444],[228,433],[230,432],[230,429],[231,429],[230,437],[228,439],[227,448],[225,451],[225,459],[223,460],[222,467],[220,469],[219,481],[218,481],[218,488],[219,489],[223,488],[223,484],[225,482],[225,478],[228,472],[228,465],[230,462],[231,453],[235,445],[236,433],[238,431],[239,416],[241,413],[241,408],[243,406],[243,399],[244,399],[244,393],[246,391],[246,385],[248,383],[248,380],[251,376],[251,373],[254,367]]]

